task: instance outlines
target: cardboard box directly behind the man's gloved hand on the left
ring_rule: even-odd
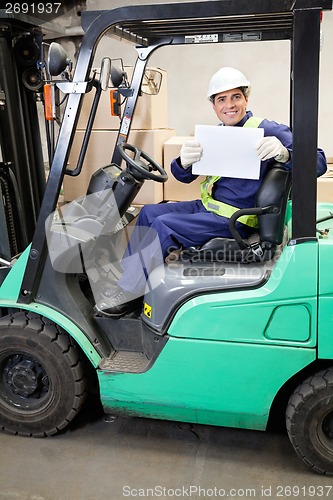
[[[205,176],[200,175],[191,184],[184,184],[177,181],[171,173],[170,165],[172,160],[180,154],[182,144],[193,137],[171,137],[164,144],[164,168],[168,172],[169,179],[164,184],[164,200],[166,201],[189,201],[200,198],[200,182],[205,180]]]

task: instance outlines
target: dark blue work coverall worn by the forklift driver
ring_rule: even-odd
[[[242,127],[250,116],[253,116],[252,112],[247,111],[245,117],[235,126]],[[264,136],[277,137],[287,148],[290,159],[283,164],[283,167],[291,169],[292,133],[290,129],[286,125],[266,119],[260,123],[259,127],[264,129]],[[267,169],[274,162],[274,159],[261,162],[258,180],[220,177],[213,186],[213,198],[234,207],[253,207],[255,194]],[[325,173],[326,169],[325,154],[318,149],[318,176]],[[185,169],[181,166],[180,158],[173,160],[171,172],[178,181],[184,183],[190,183],[197,178],[197,175],[192,174],[192,166]],[[144,206],[122,260],[124,272],[118,282],[119,286],[138,296],[142,295],[147,275],[164,261],[170,250],[201,245],[214,237],[231,237],[228,222],[228,218],[206,210],[200,199]],[[246,236],[246,226],[238,223],[237,228],[242,236]]]

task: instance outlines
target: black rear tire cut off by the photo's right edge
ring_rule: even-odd
[[[333,367],[306,379],[289,399],[286,424],[298,456],[333,476]]]

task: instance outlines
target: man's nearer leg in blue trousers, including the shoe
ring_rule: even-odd
[[[172,209],[166,210],[165,205]],[[143,212],[130,238],[122,260],[124,272],[118,282],[118,293],[105,300],[104,304],[97,304],[106,314],[125,314],[129,306],[124,304],[124,300],[130,301],[144,294],[146,286],[150,285],[150,272],[163,264],[169,251],[200,245],[216,236],[230,236],[228,219],[206,211],[200,202],[164,204],[159,210],[151,207]],[[143,223],[150,224],[150,227],[144,228],[141,226]]]

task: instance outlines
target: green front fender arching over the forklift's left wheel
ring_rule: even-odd
[[[18,304],[16,301],[21,288],[22,278],[25,271],[25,266],[27,258],[29,255],[30,247],[28,247],[25,252],[20,256],[15,265],[12,267],[7,277],[5,278],[3,284],[0,287],[0,307],[6,308],[18,308],[25,309],[27,311],[34,311],[41,316],[54,321],[57,325],[61,326],[66,332],[68,332],[71,337],[73,337],[79,344],[83,352],[86,354],[87,358],[90,360],[92,365],[96,368],[101,361],[101,357],[93,347],[91,342],[87,339],[85,334],[80,330],[75,323],[73,323],[68,317],[61,314],[61,312],[47,307],[43,304],[38,304],[37,302],[31,302],[30,304]]]

